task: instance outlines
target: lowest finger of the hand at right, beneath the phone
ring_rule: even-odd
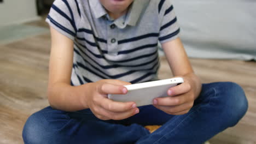
[[[159,106],[159,105],[154,105],[154,106],[166,113],[178,113],[178,112],[190,110],[191,107],[193,107],[193,103],[185,103],[177,106]]]

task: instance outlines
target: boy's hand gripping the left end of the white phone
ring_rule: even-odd
[[[120,120],[131,117],[139,112],[135,102],[118,102],[107,98],[107,94],[126,94],[124,85],[129,82],[120,80],[100,80],[90,83],[89,93],[86,94],[85,103],[97,118],[102,120]]]

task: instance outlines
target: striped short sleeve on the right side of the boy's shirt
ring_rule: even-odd
[[[179,37],[180,28],[171,1],[161,0],[158,8],[161,22],[159,33],[160,43],[162,44],[166,43],[167,41],[177,39]]]

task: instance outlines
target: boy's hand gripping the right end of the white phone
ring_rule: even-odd
[[[193,80],[183,77],[181,85],[168,89],[168,97],[155,98],[153,105],[171,115],[183,115],[188,113],[197,98]]]

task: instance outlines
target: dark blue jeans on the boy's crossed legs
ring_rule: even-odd
[[[202,85],[193,108],[173,116],[152,105],[121,121],[102,121],[89,110],[66,112],[50,106],[34,113],[23,129],[25,143],[203,143],[236,125],[248,102],[236,83]],[[162,125],[150,134],[144,125]]]

